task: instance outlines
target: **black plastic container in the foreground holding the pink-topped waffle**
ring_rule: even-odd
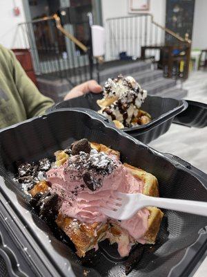
[[[121,152],[121,161],[151,172],[159,181],[161,197],[207,199],[206,174],[111,127],[94,111],[60,109],[2,129],[0,261],[10,276],[188,276],[207,249],[207,217],[164,211],[154,245],[139,244],[123,259],[115,244],[104,241],[97,252],[79,259],[70,242],[57,240],[46,222],[31,212],[27,197],[13,181],[17,161],[52,157],[82,138],[110,145]]]

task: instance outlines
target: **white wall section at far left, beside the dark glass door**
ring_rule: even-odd
[[[16,17],[13,12],[14,1],[0,0],[0,44],[7,48],[21,48],[21,39],[17,36],[17,25],[26,21],[23,12],[22,0],[16,0],[16,5],[20,9],[20,15]]]

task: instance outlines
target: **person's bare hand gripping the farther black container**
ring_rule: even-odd
[[[89,91],[93,93],[100,93],[102,91],[102,87],[95,80],[83,82],[83,84],[79,84],[78,86],[71,89],[71,91],[66,94],[64,100],[83,96]]]

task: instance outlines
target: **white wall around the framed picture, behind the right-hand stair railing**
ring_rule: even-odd
[[[126,51],[128,55],[140,57],[141,46],[146,44],[162,44],[164,42],[164,31],[155,26],[153,28],[153,35],[152,37],[150,36],[151,24],[148,24],[148,36],[147,41],[145,41],[144,26],[142,26],[144,21],[141,20],[143,19],[141,17],[121,19],[121,21],[119,19],[106,21],[106,19],[110,18],[136,16],[137,14],[128,12],[128,2],[128,0],[101,1],[103,25],[106,28],[106,60],[116,60],[119,58],[119,53],[123,51]],[[153,15],[157,23],[165,26],[166,0],[151,0],[149,13]],[[139,29],[139,26],[142,26],[142,28]],[[155,28],[157,28],[157,33]],[[148,50],[146,55],[153,55],[156,60],[159,59],[159,51],[157,50]]]

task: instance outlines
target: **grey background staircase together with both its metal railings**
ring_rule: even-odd
[[[30,29],[32,31],[27,32]],[[37,30],[43,30],[43,33],[48,34],[47,39],[37,39],[39,37]],[[21,32],[19,37],[27,38],[24,39],[25,42],[23,40],[23,48],[30,48],[39,90],[53,98],[55,102],[63,100],[64,95],[75,85],[90,80],[90,76],[93,75],[93,78],[97,79],[98,74],[102,85],[108,78],[117,77],[119,74],[132,75],[144,89],[148,90],[150,95],[186,97],[187,91],[178,88],[174,79],[164,78],[162,71],[154,68],[149,57],[158,62],[160,55],[157,54],[161,54],[159,51],[163,47],[171,47],[171,44],[168,45],[168,38],[175,39],[176,47],[184,49],[182,51],[184,54],[179,56],[175,66],[175,57],[178,57],[170,48],[168,54],[170,53],[170,57],[173,56],[174,60],[169,59],[168,55],[165,66],[170,72],[170,75],[168,74],[170,77],[173,69],[180,69],[179,63],[184,62],[183,69],[179,72],[182,74],[177,74],[179,78],[183,76],[184,79],[184,76],[188,75],[190,59],[186,48],[190,49],[191,42],[187,37],[182,38],[157,24],[150,14],[106,20],[106,54],[104,56],[106,62],[99,65],[99,70],[96,68],[95,58],[89,51],[92,48],[92,42],[90,42],[90,48],[79,42],[61,26],[61,19],[58,15],[19,24],[19,31]],[[79,51],[75,50],[77,47]],[[144,49],[147,55],[143,55]],[[141,57],[141,60],[119,60],[119,57],[126,59]],[[186,71],[185,74],[184,71]]]

